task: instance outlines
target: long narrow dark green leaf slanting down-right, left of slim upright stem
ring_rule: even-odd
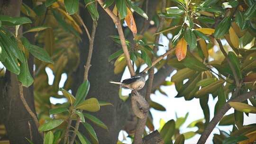
[[[55,10],[53,10],[53,15],[56,18],[57,22],[68,32],[72,33],[76,37],[80,38],[79,33],[68,23],[64,21],[64,18]]]

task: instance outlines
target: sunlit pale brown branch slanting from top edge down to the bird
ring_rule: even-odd
[[[99,2],[101,7],[103,8],[104,2],[102,0],[97,0],[97,1]],[[131,59],[130,59],[130,54],[129,54],[127,45],[125,43],[125,37],[124,37],[121,21],[109,8],[106,8],[104,10],[107,12],[107,14],[110,16],[110,18],[112,18],[113,22],[117,26],[119,38],[120,38],[120,41],[121,41],[122,49],[124,51],[125,60],[126,60],[129,72],[130,72],[131,76],[134,76],[134,75],[136,75],[136,73],[134,72],[134,69],[132,67],[132,63],[131,63]]]

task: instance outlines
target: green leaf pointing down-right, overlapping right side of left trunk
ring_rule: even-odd
[[[37,45],[30,45],[28,48],[29,53],[31,53],[33,56],[35,56],[38,60],[44,61],[46,63],[54,63],[51,60],[51,57],[46,52],[45,49],[37,46]]]

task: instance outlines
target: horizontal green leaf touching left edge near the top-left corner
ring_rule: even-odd
[[[3,26],[17,26],[32,23],[32,21],[26,17],[9,17],[6,15],[0,15],[0,21]]]

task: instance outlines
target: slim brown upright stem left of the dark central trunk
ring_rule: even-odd
[[[97,4],[97,2],[96,2]],[[95,32],[96,32],[96,27],[97,27],[97,21],[93,21],[92,24],[92,30],[91,30],[91,39],[89,40],[89,51],[88,51],[88,57],[86,64],[84,65],[84,75],[83,75],[83,80],[86,81],[88,80],[88,73],[89,69],[91,67],[91,56],[92,56],[92,51],[93,51],[93,43],[94,43],[94,37],[95,37]],[[75,137],[76,137],[76,131],[79,129],[79,124],[80,124],[80,117],[77,117],[76,123],[75,123],[75,132],[73,133],[71,137],[70,144],[74,143]]]

